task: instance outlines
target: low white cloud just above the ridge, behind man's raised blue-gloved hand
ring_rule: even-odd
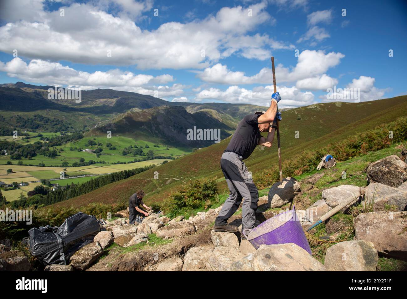
[[[279,107],[298,107],[315,103],[312,92],[301,92],[297,87],[278,86],[282,100]],[[258,86],[253,90],[230,86],[222,91],[218,88],[204,89],[196,95],[196,101],[219,100],[226,103],[245,103],[268,107],[270,105],[271,94],[274,92],[273,85]]]

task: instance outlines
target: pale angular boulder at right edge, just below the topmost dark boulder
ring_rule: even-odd
[[[370,183],[368,187],[365,188],[365,200],[363,205],[371,205],[372,201],[374,206],[381,206],[384,210],[384,205],[394,205],[400,211],[404,211],[407,206],[407,190],[402,190],[399,188],[390,187],[381,183]],[[381,202],[380,204],[378,204]],[[374,209],[376,210],[376,209]]]

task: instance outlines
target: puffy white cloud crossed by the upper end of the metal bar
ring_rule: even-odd
[[[325,54],[322,50],[304,50],[300,53],[297,65],[292,70],[284,68],[281,64],[277,65],[276,81],[279,83],[299,81],[298,84],[302,89],[326,89],[336,84],[337,80],[325,73],[329,68],[338,65],[343,57],[345,55],[339,52]],[[246,76],[244,72],[234,72],[226,65],[217,63],[198,73],[197,77],[208,83],[228,85],[270,84],[273,74],[270,68],[262,68],[257,74]]]

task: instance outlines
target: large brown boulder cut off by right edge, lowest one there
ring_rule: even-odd
[[[407,212],[370,212],[354,220],[355,237],[374,244],[383,255],[407,258]]]

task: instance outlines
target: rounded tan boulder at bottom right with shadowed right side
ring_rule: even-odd
[[[353,240],[329,247],[324,266],[327,271],[376,271],[378,260],[372,242]]]

